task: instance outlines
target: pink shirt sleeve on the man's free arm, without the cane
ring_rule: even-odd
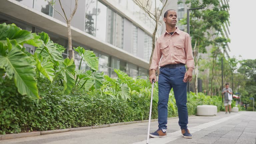
[[[192,67],[193,69],[195,69],[195,62],[191,46],[191,37],[189,36],[189,34],[187,34],[185,37],[185,52],[187,58],[187,67]]]

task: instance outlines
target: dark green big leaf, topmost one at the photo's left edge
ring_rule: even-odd
[[[36,47],[39,47],[42,44],[39,39],[40,37],[34,33],[22,30],[15,24],[0,24],[0,42],[3,43],[4,46],[7,45],[7,38],[11,43],[16,41],[18,44],[27,43]]]

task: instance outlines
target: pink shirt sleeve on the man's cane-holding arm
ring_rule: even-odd
[[[160,52],[160,43],[158,41],[156,41],[156,47],[154,49],[152,62],[151,62],[150,68],[149,68],[150,70],[152,70],[152,69],[157,70],[158,69],[158,65],[159,65],[159,61],[160,61],[161,56],[162,55],[161,55],[161,52]]]

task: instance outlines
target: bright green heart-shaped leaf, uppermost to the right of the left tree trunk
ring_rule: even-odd
[[[83,61],[93,70],[99,69],[99,59],[93,51],[84,50],[83,47],[74,48],[75,51],[82,57]]]

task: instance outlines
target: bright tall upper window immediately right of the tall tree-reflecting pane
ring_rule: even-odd
[[[97,4],[97,22],[96,22],[96,37],[106,41],[107,31],[107,6],[98,1]]]

